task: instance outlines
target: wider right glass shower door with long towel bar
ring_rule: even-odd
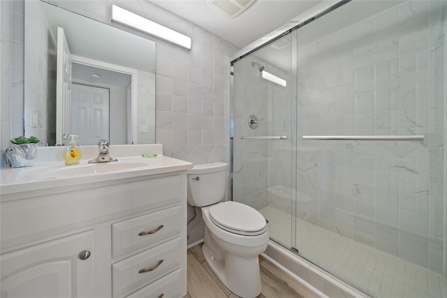
[[[351,1],[297,31],[295,247],[374,296],[446,297],[446,1]]]

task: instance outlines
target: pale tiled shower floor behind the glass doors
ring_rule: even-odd
[[[291,215],[267,206],[273,239],[291,246]],[[377,297],[447,297],[446,277],[297,219],[300,255]]]

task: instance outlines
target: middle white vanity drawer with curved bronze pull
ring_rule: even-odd
[[[182,237],[112,264],[112,295],[122,297],[181,267],[186,259]]]

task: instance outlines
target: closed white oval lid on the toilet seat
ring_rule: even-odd
[[[214,225],[234,234],[256,236],[267,229],[261,213],[235,201],[226,201],[210,207],[210,219]]]

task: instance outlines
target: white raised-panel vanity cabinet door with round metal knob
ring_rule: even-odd
[[[94,297],[93,257],[78,257],[94,249],[93,237],[90,230],[2,254],[1,297]]]

